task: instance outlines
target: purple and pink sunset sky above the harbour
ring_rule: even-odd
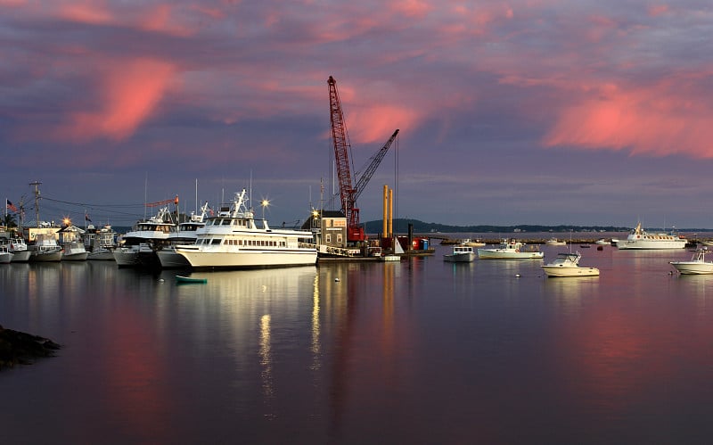
[[[0,11],[0,194],[31,207],[41,182],[41,219],[124,226],[243,187],[273,226],[332,210],[333,76],[353,182],[399,129],[361,221],[389,185],[394,216],[425,222],[713,228],[709,0]]]

